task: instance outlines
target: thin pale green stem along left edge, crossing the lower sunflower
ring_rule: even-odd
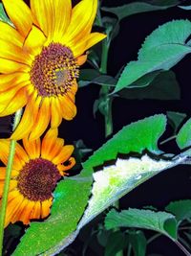
[[[22,108],[16,111],[12,130],[14,130],[21,119],[22,115]],[[10,153],[8,158],[8,165],[6,169],[6,177],[5,177],[5,184],[3,189],[3,196],[1,200],[1,209],[0,209],[0,256],[3,255],[3,238],[4,238],[4,223],[6,218],[6,209],[8,204],[8,195],[9,195],[9,188],[10,188],[10,180],[11,180],[11,169],[12,169],[12,163],[14,158],[14,151],[15,151],[16,141],[11,140],[10,143]]]

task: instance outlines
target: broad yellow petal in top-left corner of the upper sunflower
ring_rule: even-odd
[[[12,23],[23,36],[32,29],[32,12],[23,0],[2,0]]]

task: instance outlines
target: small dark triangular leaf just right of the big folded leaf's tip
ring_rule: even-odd
[[[186,114],[174,111],[167,111],[166,114],[168,122],[172,126],[172,128],[174,128],[174,133],[176,134],[178,128],[180,127],[180,124],[185,119]]]

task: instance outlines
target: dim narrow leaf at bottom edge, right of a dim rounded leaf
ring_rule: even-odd
[[[132,244],[135,256],[145,256],[146,255],[147,241],[146,241],[146,238],[142,231],[128,230],[128,239],[129,239],[130,243]]]

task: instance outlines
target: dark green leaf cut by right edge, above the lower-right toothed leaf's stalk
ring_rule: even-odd
[[[175,215],[177,221],[184,221],[191,218],[191,200],[179,200],[170,202],[165,210]]]

